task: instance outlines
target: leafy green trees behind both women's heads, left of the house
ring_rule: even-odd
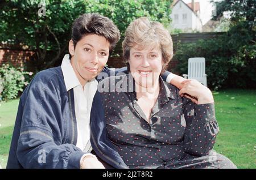
[[[172,1],[160,0],[9,0],[0,2],[0,42],[27,46],[37,70],[56,65],[67,53],[73,20],[88,12],[108,16],[121,35],[134,19],[148,16],[170,23]]]

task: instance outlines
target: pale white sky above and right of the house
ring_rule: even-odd
[[[191,2],[191,0],[183,0],[185,3]],[[201,11],[201,20],[202,24],[208,22],[208,20],[212,19],[212,11],[214,6],[210,3],[210,0],[195,0],[195,2],[200,2],[200,11]]]

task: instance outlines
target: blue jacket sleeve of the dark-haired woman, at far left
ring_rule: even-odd
[[[65,130],[61,98],[55,83],[30,84],[16,155],[23,168],[80,168],[84,153],[74,144],[63,144]]]

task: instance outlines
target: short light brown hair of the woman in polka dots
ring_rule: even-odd
[[[170,33],[159,22],[151,22],[148,18],[142,17],[134,20],[125,32],[125,40],[122,42],[123,60],[127,63],[130,58],[130,50],[135,45],[143,49],[148,45],[158,45],[163,57],[162,72],[168,67],[173,57],[172,38]],[[130,71],[130,70],[129,70]]]

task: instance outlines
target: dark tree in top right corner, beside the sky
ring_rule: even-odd
[[[242,49],[250,49],[255,46],[255,22],[256,8],[255,0],[223,0],[216,3],[217,16],[223,16],[224,12],[230,12],[230,29],[228,31],[229,41],[226,45],[233,52]],[[244,46],[248,46],[245,48]]]

